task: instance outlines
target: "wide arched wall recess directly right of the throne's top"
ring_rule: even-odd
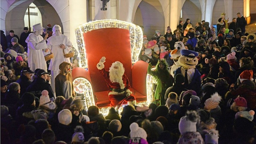
[[[134,9],[135,10],[135,9]],[[155,33],[155,30],[160,30],[164,35],[165,18],[162,5],[158,0],[149,1],[143,0],[136,8],[134,15],[134,24],[144,27],[144,34],[150,39]]]

